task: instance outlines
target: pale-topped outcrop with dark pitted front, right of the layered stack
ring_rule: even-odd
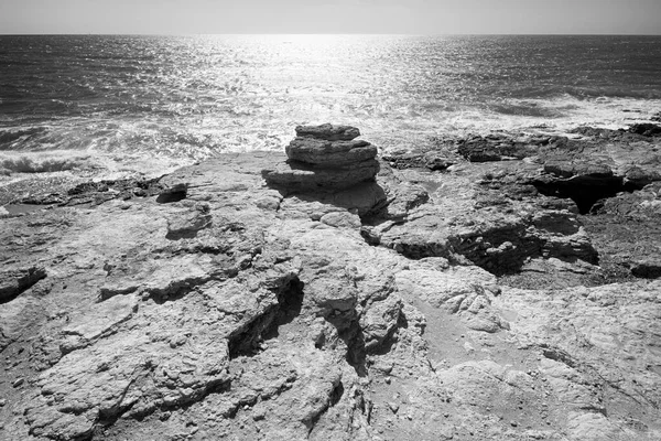
[[[488,173],[463,169],[425,175],[425,186],[435,190],[405,223],[365,225],[362,234],[409,258],[470,261],[498,276],[516,273],[538,257],[596,263],[597,251],[575,207],[543,196],[521,172],[506,163]]]

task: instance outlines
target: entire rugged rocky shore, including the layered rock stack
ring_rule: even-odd
[[[660,132],[0,192],[0,439],[659,440]]]

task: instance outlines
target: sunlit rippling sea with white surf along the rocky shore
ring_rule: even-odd
[[[0,35],[0,185],[283,150],[297,125],[389,151],[659,111],[661,36]]]

